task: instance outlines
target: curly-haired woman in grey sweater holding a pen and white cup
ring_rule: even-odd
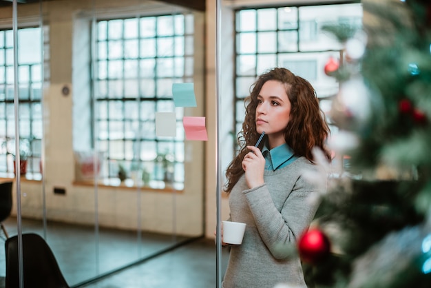
[[[263,141],[255,147],[262,132]],[[246,223],[246,232],[241,245],[229,245],[224,288],[306,287],[300,260],[289,247],[317,210],[318,203],[307,199],[317,187],[302,174],[315,169],[314,147],[330,161],[328,134],[308,81],[274,68],[254,83],[238,135],[241,149],[226,172],[229,220]]]

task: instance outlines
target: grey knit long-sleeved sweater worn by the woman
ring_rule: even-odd
[[[265,184],[248,189],[244,175],[229,196],[229,220],[246,223],[241,245],[231,247],[224,288],[306,287],[299,258],[292,254],[308,229],[318,203],[307,199],[317,188],[302,172],[315,169],[301,157],[286,167],[264,171]]]

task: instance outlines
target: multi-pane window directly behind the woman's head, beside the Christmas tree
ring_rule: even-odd
[[[339,87],[335,79],[324,74],[324,65],[330,56],[340,58],[341,45],[321,28],[334,23],[361,27],[361,4],[235,11],[235,135],[242,129],[244,98],[251,84],[257,75],[275,66],[288,68],[310,81],[321,99],[322,110],[328,110],[330,97]],[[335,132],[337,127],[331,125],[331,130]]]

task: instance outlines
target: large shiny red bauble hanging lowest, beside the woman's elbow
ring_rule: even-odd
[[[330,254],[330,242],[319,229],[310,229],[299,238],[298,251],[305,262],[317,263]]]

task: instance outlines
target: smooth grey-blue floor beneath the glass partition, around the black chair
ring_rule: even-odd
[[[9,236],[17,234],[17,219],[4,222]],[[22,232],[44,236],[39,220],[22,220]],[[179,238],[114,229],[46,225],[46,239],[71,287],[86,288],[207,288],[216,287],[216,248],[213,239]],[[0,231],[1,232],[1,231]],[[2,232],[1,232],[2,234]],[[3,244],[4,245],[4,236]],[[99,243],[96,245],[96,243]],[[229,255],[222,251],[222,271]],[[6,261],[0,249],[0,288]],[[223,272],[221,272],[223,273]]]

